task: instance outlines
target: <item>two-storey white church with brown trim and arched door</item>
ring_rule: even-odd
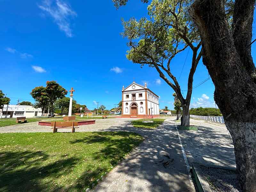
[[[122,117],[158,117],[159,98],[145,86],[135,82],[122,90]]]

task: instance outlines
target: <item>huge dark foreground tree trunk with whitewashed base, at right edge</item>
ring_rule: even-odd
[[[250,4],[247,12],[253,14],[254,3],[255,0],[244,1],[240,6]],[[246,47],[235,45],[224,6],[224,0],[196,0],[189,13],[199,28],[203,62],[215,85],[214,99],[233,139],[239,185],[244,192],[255,192],[256,84],[252,77],[253,69],[244,64],[244,57],[241,57]],[[234,15],[236,13],[235,7]],[[250,36],[250,32],[247,35]],[[251,62],[248,52],[246,58]]]

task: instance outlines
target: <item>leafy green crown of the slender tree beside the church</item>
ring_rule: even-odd
[[[161,67],[188,43],[198,42],[199,33],[186,11],[189,3],[188,0],[153,0],[148,6],[150,20],[123,21],[122,34],[129,39],[131,48],[127,58],[141,66]]]

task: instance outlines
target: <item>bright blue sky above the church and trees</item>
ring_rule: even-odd
[[[125,57],[128,47],[120,35],[121,18],[145,17],[147,6],[139,0],[130,0],[119,10],[111,0],[0,0],[0,89],[11,97],[11,104],[17,104],[18,98],[33,102],[29,92],[34,87],[56,80],[67,90],[74,87],[74,99],[89,109],[97,107],[95,102],[110,109],[122,99],[122,86],[134,79],[138,84],[147,82],[160,96],[160,108],[173,109],[174,91],[156,69],[140,68]],[[256,43],[252,45],[254,61],[255,50]],[[179,81],[182,90],[187,89],[191,50],[180,53],[171,65],[179,78],[187,53]],[[208,77],[200,61],[194,85]],[[191,107],[215,107],[213,92],[211,79],[195,88]]]

